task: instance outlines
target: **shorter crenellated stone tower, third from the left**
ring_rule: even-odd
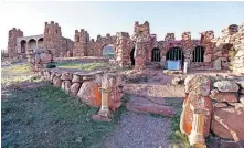
[[[73,56],[87,56],[88,54],[89,34],[84,29],[75,30],[75,43],[73,49]]]

